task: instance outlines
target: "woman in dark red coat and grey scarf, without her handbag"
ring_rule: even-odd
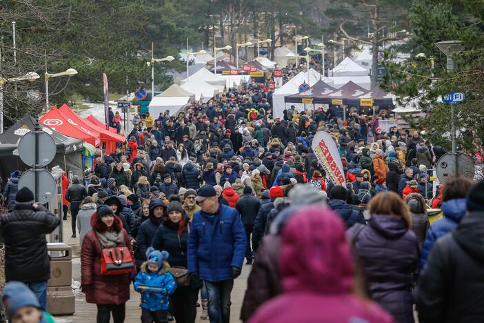
[[[130,282],[136,268],[123,275],[101,275],[101,250],[125,246],[131,251],[128,233],[121,219],[109,206],[99,206],[91,216],[92,229],[86,233],[81,248],[81,286],[85,301],[97,304],[97,323],[123,323],[125,302],[130,299]]]

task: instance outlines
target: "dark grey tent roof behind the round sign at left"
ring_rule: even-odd
[[[42,130],[49,135],[52,135],[52,138],[54,138],[58,154],[70,154],[81,150],[82,140],[67,137],[62,133],[58,133],[56,130],[49,128],[48,126],[41,124],[40,122],[39,124]],[[34,130],[34,128],[35,119],[30,117],[30,115],[25,115],[22,119],[10,126],[10,128],[5,130],[5,132],[0,135],[0,150],[8,148],[4,146],[6,144],[13,145],[12,147],[17,148],[22,136],[26,133],[30,133],[30,131]]]

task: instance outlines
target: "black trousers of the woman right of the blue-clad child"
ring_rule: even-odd
[[[173,315],[177,323],[195,323],[198,288],[178,287],[171,295]]]

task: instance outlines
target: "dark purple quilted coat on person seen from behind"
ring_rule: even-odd
[[[402,217],[372,215],[354,246],[372,299],[392,314],[396,322],[413,323],[412,272],[420,257],[415,233]]]

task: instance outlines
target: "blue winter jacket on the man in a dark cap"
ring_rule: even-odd
[[[232,280],[232,267],[242,268],[245,230],[239,212],[220,205],[216,214],[196,211],[188,236],[188,272],[200,280]]]

